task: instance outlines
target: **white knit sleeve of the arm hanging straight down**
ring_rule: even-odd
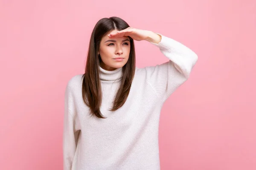
[[[63,128],[63,165],[64,170],[71,170],[76,152],[78,131],[76,130],[76,107],[70,83],[65,91],[65,110]]]

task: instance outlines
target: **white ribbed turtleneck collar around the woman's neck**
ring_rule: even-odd
[[[122,78],[122,67],[113,71],[107,71],[99,67],[99,79],[105,81],[115,81]]]

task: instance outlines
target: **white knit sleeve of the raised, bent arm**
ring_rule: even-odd
[[[163,35],[161,37],[161,42],[151,44],[159,47],[169,62],[154,67],[146,67],[146,79],[164,102],[189,78],[198,56],[180,42]]]

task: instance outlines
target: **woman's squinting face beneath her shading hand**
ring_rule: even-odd
[[[110,31],[108,34],[114,31]],[[101,68],[113,71],[126,64],[131,46],[127,36],[110,39],[108,34],[102,37],[98,54],[102,59],[102,62],[100,63]]]

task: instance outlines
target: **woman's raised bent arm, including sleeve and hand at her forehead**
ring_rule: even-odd
[[[198,60],[197,54],[185,45],[152,31],[129,27],[109,35],[110,38],[122,36],[130,36],[137,41],[151,42],[160,48],[160,51],[169,59],[169,62],[145,68],[146,81],[163,101],[189,78]]]

